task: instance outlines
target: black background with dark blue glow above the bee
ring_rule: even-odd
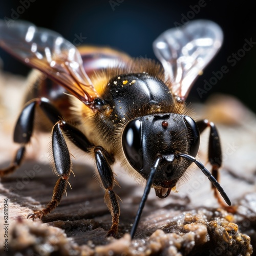
[[[223,29],[224,44],[197,80],[188,101],[205,101],[212,93],[221,92],[237,96],[256,112],[256,45],[233,67],[227,61],[229,56],[243,49],[245,39],[252,38],[256,42],[253,1],[30,1],[1,1],[0,18],[29,20],[39,27],[59,32],[76,44],[76,35],[81,35],[86,37],[83,44],[111,46],[135,57],[155,58],[152,50],[154,39],[166,29],[175,27],[175,23],[182,24],[184,17],[213,20]],[[202,3],[204,7],[197,13],[193,11],[193,7],[198,10],[196,6]],[[0,57],[4,60],[5,70],[28,73],[27,67],[1,50]],[[212,72],[220,71],[224,65],[229,72],[201,98],[196,89],[203,88],[204,79],[209,81]]]

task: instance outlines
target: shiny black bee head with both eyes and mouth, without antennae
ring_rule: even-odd
[[[156,157],[161,157],[153,181],[156,195],[165,198],[190,165],[184,153],[195,157],[200,143],[196,122],[180,114],[146,115],[126,124],[122,146],[130,165],[148,179]]]

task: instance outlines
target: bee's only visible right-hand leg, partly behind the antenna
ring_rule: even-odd
[[[219,182],[219,168],[222,164],[222,153],[221,153],[221,142],[220,137],[217,131],[217,128],[214,123],[209,122],[207,119],[201,120],[197,122],[197,126],[200,134],[207,128],[210,127],[210,135],[209,135],[209,145],[208,145],[208,159],[212,166],[211,174],[215,177],[215,179]],[[222,207],[227,207],[222,197],[218,193],[217,188],[214,185],[211,185],[212,189],[214,189],[214,196],[218,200],[218,203]]]

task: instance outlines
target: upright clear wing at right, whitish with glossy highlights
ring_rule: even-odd
[[[185,101],[198,75],[219,51],[221,28],[209,20],[195,20],[162,33],[153,43],[155,55],[172,81],[172,93]]]

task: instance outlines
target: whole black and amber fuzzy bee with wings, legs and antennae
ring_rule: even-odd
[[[52,123],[53,170],[59,178],[51,201],[28,218],[50,214],[66,192],[73,172],[67,140],[95,159],[95,173],[112,216],[108,235],[116,237],[120,216],[114,192],[118,182],[111,167],[116,160],[145,185],[132,238],[150,189],[166,198],[192,163],[208,177],[221,206],[225,207],[222,198],[231,205],[218,182],[222,159],[217,128],[208,120],[194,121],[185,104],[193,83],[222,40],[220,27],[208,20],[167,30],[153,43],[157,63],[110,48],[78,50],[56,32],[27,22],[7,26],[2,20],[0,46],[40,71],[34,78],[40,87],[18,117],[14,142],[20,147],[10,166],[0,170],[1,176],[13,173],[24,159],[37,110]],[[48,79],[39,79],[42,75]],[[212,172],[196,159],[200,134],[207,127]]]

